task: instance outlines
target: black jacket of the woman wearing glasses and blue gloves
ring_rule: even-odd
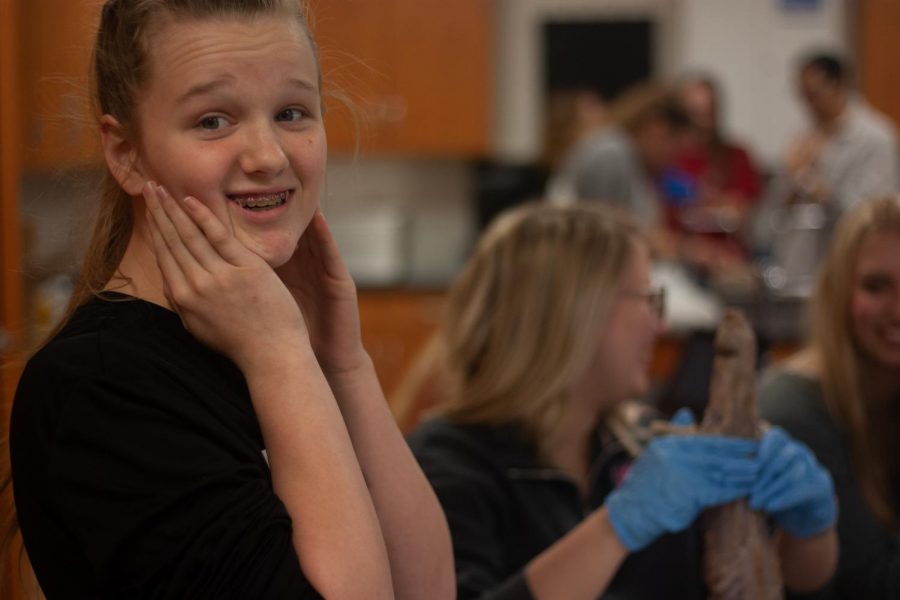
[[[540,463],[515,425],[432,419],[408,441],[447,515],[460,600],[531,600],[525,565],[600,507],[630,466],[622,446],[598,434],[582,498],[569,476]],[[702,575],[700,530],[691,526],[631,554],[603,598],[701,599]]]

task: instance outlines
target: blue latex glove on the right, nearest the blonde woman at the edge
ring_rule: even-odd
[[[772,427],[759,445],[760,475],[750,506],[770,513],[791,535],[822,533],[837,519],[831,475],[813,453],[780,427]]]

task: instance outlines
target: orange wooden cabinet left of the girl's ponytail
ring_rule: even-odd
[[[96,164],[97,126],[88,70],[99,5],[87,0],[21,3],[20,81],[24,167],[47,171]]]

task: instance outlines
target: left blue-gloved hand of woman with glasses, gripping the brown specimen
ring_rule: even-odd
[[[679,414],[672,424],[689,425],[690,419]],[[714,435],[653,440],[607,497],[616,535],[634,552],[686,528],[706,508],[747,496],[759,473],[758,444]]]

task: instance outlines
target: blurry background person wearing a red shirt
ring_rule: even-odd
[[[662,177],[668,227],[680,255],[707,269],[747,258],[743,236],[761,179],[749,152],[720,127],[722,97],[708,75],[682,79],[681,101],[691,126],[677,164]]]

